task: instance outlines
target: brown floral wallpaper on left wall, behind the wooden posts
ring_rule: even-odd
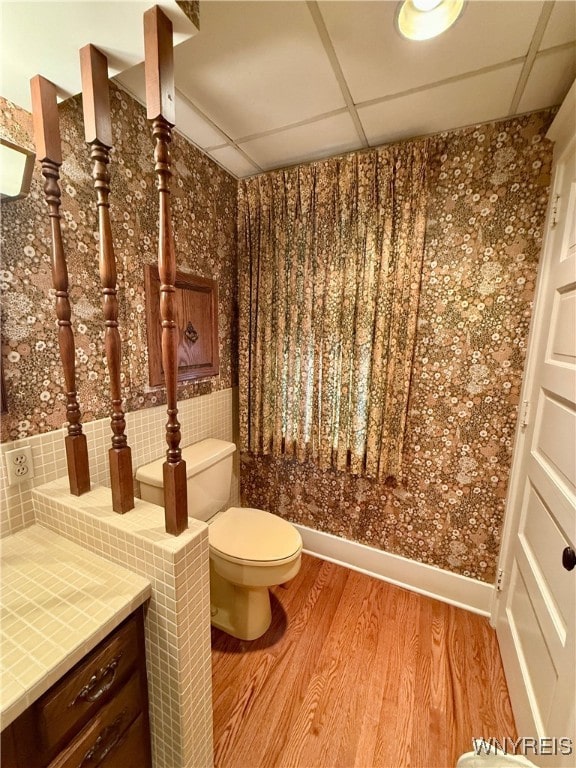
[[[165,402],[148,386],[145,263],[157,260],[158,193],[154,145],[145,110],[111,84],[114,148],[110,213],[118,265],[125,410]],[[81,97],[59,107],[63,164],[62,227],[76,344],[82,420],[109,413],[98,271],[98,224]],[[3,136],[33,149],[31,116],[0,99]],[[179,386],[179,398],[226,389],[237,381],[236,180],[177,132],[171,147],[172,217],[179,269],[214,278],[219,289],[220,375]],[[28,197],[2,204],[0,290],[2,362],[8,413],[2,440],[58,429],[65,422],[56,337],[50,229],[36,163]]]

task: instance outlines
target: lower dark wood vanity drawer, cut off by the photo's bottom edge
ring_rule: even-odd
[[[118,752],[125,749],[125,741],[136,740],[129,734],[130,726],[141,714],[140,677],[136,672],[122,690],[50,763],[49,768],[95,768],[95,766],[124,764],[117,762]],[[142,718],[141,718],[142,719]],[[140,761],[140,766],[147,765]]]

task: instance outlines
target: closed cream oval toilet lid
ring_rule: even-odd
[[[238,560],[272,562],[302,548],[300,534],[286,520],[262,509],[231,507],[210,523],[211,549]]]

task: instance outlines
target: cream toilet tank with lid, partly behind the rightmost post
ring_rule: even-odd
[[[182,449],[188,478],[188,517],[208,520],[222,509],[230,497],[234,443],[209,437]],[[145,464],[136,471],[140,497],[164,506],[162,467],[165,457]]]

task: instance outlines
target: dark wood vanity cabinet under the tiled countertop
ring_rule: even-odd
[[[2,768],[148,768],[143,609],[2,732]]]

